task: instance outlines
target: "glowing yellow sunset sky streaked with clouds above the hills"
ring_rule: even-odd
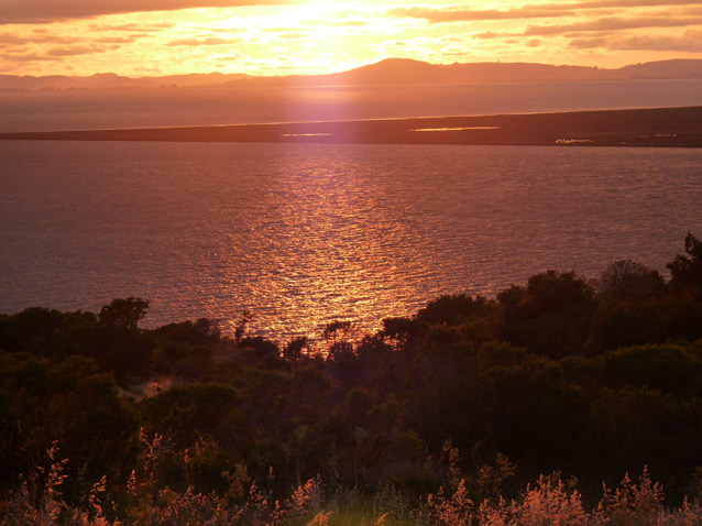
[[[702,58],[702,1],[0,0],[0,74],[289,75],[387,57]]]

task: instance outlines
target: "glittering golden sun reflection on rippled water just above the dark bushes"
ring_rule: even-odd
[[[275,220],[253,227],[261,235],[257,256],[266,261],[250,291],[250,302],[265,319],[259,328],[285,333],[289,319],[276,319],[281,311],[294,316],[297,331],[310,337],[333,320],[364,320],[368,330],[379,328],[380,319],[373,326],[366,321],[379,313],[409,314],[407,302],[418,292],[397,264],[412,257],[394,252],[412,226],[392,217],[390,196],[370,187],[371,174],[350,167],[348,160],[307,169],[288,161],[277,160],[275,169],[287,175],[271,180],[260,204]]]

